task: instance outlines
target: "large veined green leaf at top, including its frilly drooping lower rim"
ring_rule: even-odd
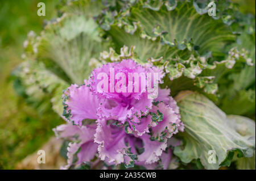
[[[174,8],[168,8],[170,3]],[[220,2],[218,7],[221,8],[218,15],[221,15],[233,5]],[[171,80],[181,75],[191,78],[194,86],[216,101],[217,80],[227,68],[232,68],[235,59],[230,54],[226,56],[225,47],[233,43],[237,35],[226,20],[214,19],[206,12],[199,9],[196,1],[140,1],[125,12],[113,15],[106,33],[117,52],[126,45],[135,47],[139,62],[162,57],[164,61],[160,65],[164,64]],[[108,11],[106,16],[109,14]],[[232,53],[234,48],[230,49]]]

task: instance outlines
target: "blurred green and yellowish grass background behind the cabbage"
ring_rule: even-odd
[[[254,0],[233,0],[241,11],[255,14]],[[38,16],[37,4],[46,4],[46,16]],[[22,62],[23,42],[27,33],[37,34],[43,29],[44,20],[57,16],[60,0],[1,0],[0,1],[0,169],[14,169],[16,163],[36,151],[49,137],[52,128],[63,120],[49,108],[24,99],[22,90],[15,92],[11,73]]]

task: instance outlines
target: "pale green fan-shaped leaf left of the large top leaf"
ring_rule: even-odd
[[[97,28],[92,18],[64,15],[48,24],[38,37],[36,58],[49,64],[48,69],[57,65],[56,74],[64,71],[72,83],[81,84],[93,69],[91,62],[108,47],[102,43]]]

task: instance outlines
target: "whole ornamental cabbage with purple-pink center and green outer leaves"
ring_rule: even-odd
[[[207,0],[59,12],[28,33],[15,75],[65,121],[53,129],[69,142],[61,169],[255,169],[254,15]]]

